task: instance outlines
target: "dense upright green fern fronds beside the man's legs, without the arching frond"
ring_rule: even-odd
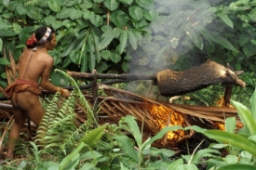
[[[60,96],[59,93],[50,102],[49,107],[52,108],[47,108],[42,124],[40,124],[39,130],[37,131],[38,141],[44,145],[45,150],[52,150],[54,147],[62,150],[67,148],[70,143],[74,143],[73,136],[76,128],[74,124],[75,98],[72,94],[71,97],[61,103],[61,108],[59,108],[56,107],[57,104],[54,104],[57,102],[58,96]]]

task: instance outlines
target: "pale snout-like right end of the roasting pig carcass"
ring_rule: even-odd
[[[229,83],[229,84],[236,84],[241,87],[245,87],[246,83],[237,77],[238,75],[240,75],[243,72],[244,71],[233,72],[230,65],[227,64],[227,68],[224,73],[225,74],[224,79],[226,79],[226,80],[224,80],[224,82]]]

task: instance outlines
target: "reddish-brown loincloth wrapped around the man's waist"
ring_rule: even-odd
[[[39,88],[39,85],[28,81],[28,80],[22,80],[17,78],[12,85],[8,85],[6,88],[7,98],[11,98],[13,93],[19,93],[19,92],[31,92],[34,95],[41,95],[41,90]]]

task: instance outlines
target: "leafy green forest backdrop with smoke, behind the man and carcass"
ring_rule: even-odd
[[[240,78],[247,87],[236,87],[233,98],[248,104],[256,83],[255,6],[249,0],[4,0],[0,54],[5,48],[18,61],[26,39],[48,25],[58,35],[58,46],[50,52],[54,68],[143,74],[183,71],[211,59],[245,72]],[[1,58],[2,87],[7,86],[7,64]],[[55,72],[51,81],[68,85]],[[150,88],[148,82],[134,84],[126,88],[142,94]],[[213,105],[212,98],[222,91],[213,87],[194,97],[199,104]]]

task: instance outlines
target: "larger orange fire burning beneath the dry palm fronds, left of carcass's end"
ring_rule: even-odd
[[[180,125],[185,126],[185,121],[181,112],[173,111],[172,109],[163,105],[148,105],[147,109],[152,116],[150,119],[152,124],[159,130],[166,126]],[[168,139],[178,141],[182,137],[185,137],[183,130],[176,130],[168,132]]]

